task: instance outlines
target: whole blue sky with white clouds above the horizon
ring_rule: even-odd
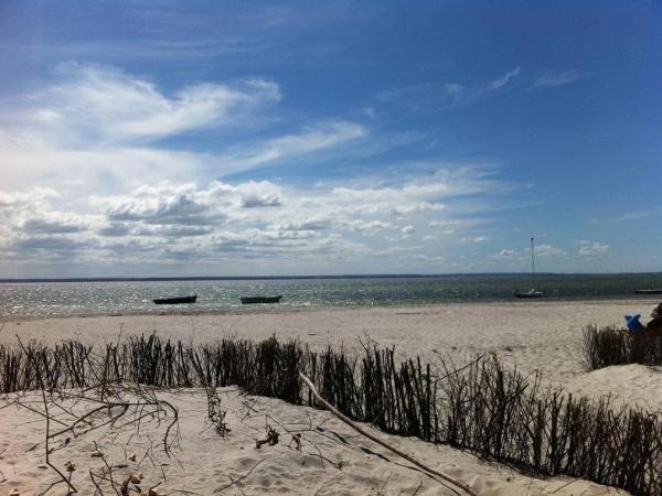
[[[0,278],[662,270],[658,1],[0,1]]]

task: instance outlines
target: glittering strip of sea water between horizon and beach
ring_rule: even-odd
[[[238,309],[239,298],[282,294],[280,306],[396,305],[514,301],[532,285],[545,300],[636,298],[634,289],[662,288],[662,273],[615,276],[442,276],[434,278],[289,279],[158,282],[0,283],[0,317],[196,313]],[[152,299],[197,294],[190,305]],[[660,296],[662,299],[662,296]],[[273,308],[275,305],[270,305]],[[260,310],[265,305],[244,305]]]

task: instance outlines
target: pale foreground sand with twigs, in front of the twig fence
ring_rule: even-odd
[[[222,405],[228,411],[227,424],[232,432],[222,438],[205,423],[206,403],[200,389],[162,393],[160,397],[172,401],[182,419],[181,441],[173,449],[173,457],[168,457],[162,450],[166,423],[159,427],[154,421],[143,421],[140,434],[135,429],[103,428],[74,438],[66,448],[51,455],[51,462],[61,470],[64,470],[67,460],[76,465],[72,482],[83,495],[94,494],[89,471],[98,474],[105,466],[102,460],[90,457],[94,441],[105,452],[108,464],[115,467],[114,478],[121,482],[129,473],[142,473],[145,492],[160,482],[158,489],[169,495],[178,494],[178,490],[212,495],[224,486],[228,487],[220,494],[457,494],[413,468],[408,462],[355,435],[354,431],[323,411],[266,398],[243,398],[228,388],[228,392],[222,395]],[[40,406],[36,395],[21,401],[33,408]],[[67,406],[66,402],[64,405]],[[257,450],[255,440],[265,436],[266,422],[280,432],[280,442]],[[293,444],[289,446],[292,434],[288,431],[301,433],[300,452]],[[57,481],[53,471],[39,467],[45,461],[43,444],[25,453],[43,441],[44,432],[43,420],[26,409],[12,406],[2,410],[0,470],[7,481],[0,483],[0,494],[7,495],[11,488],[18,487],[21,495],[33,495]],[[435,446],[381,432],[377,435],[424,463],[463,481],[484,496],[618,494],[613,488],[585,481],[525,477],[448,446]],[[52,445],[61,446],[64,438],[60,436]],[[131,453],[137,454],[136,462],[128,460]],[[339,463],[342,464],[340,467]],[[118,468],[117,465],[126,467]],[[250,475],[231,485],[233,479],[239,479],[253,467]],[[105,494],[114,494],[109,485],[105,489]],[[60,485],[49,494],[64,495],[66,492]]]

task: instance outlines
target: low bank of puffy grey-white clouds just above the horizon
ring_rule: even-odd
[[[470,225],[467,218],[448,218],[450,208],[437,200],[473,191],[481,177],[479,171],[439,171],[427,181],[313,188],[269,181],[161,181],[139,184],[122,195],[99,192],[74,204],[50,190],[0,192],[0,209],[11,208],[13,219],[0,228],[0,255],[6,263],[20,260],[35,267],[53,260],[103,267],[152,260],[218,263],[237,254],[243,260],[261,257],[284,265],[295,255],[309,263],[316,255],[401,260],[406,251],[436,257],[425,254],[429,246],[394,244],[418,229],[429,240],[446,227]],[[392,222],[394,213],[399,225]],[[446,218],[431,217],[439,213]]]

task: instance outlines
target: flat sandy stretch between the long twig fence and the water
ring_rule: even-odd
[[[15,334],[43,343],[78,339],[117,341],[121,335],[157,332],[160,336],[209,342],[226,336],[264,339],[271,335],[297,338],[313,347],[328,345],[359,351],[369,341],[392,347],[401,356],[437,354],[463,360],[498,353],[525,374],[541,371],[564,384],[584,370],[581,327],[624,324],[623,315],[641,313],[653,299],[604,301],[534,301],[455,303],[419,306],[311,308],[303,310],[226,312],[205,315],[118,315],[65,319],[7,320],[0,343],[17,342]]]

